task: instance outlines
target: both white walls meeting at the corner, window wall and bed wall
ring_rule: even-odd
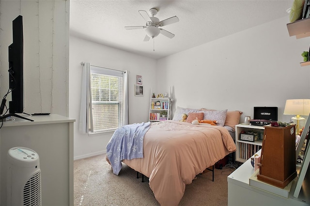
[[[253,117],[254,106],[278,106],[279,120],[289,122],[285,100],[310,99],[310,69],[299,65],[308,38],[289,37],[287,22],[288,17],[280,18],[156,61],[71,36],[70,117],[78,122],[80,62],[89,61],[131,72],[130,123],[146,121],[149,112],[150,93],[133,95],[136,74],[143,77],[144,91],[153,87],[156,94],[165,93],[171,87],[173,111],[176,106],[241,110],[242,121]],[[102,153],[111,135],[88,137],[75,127],[75,158]]]

